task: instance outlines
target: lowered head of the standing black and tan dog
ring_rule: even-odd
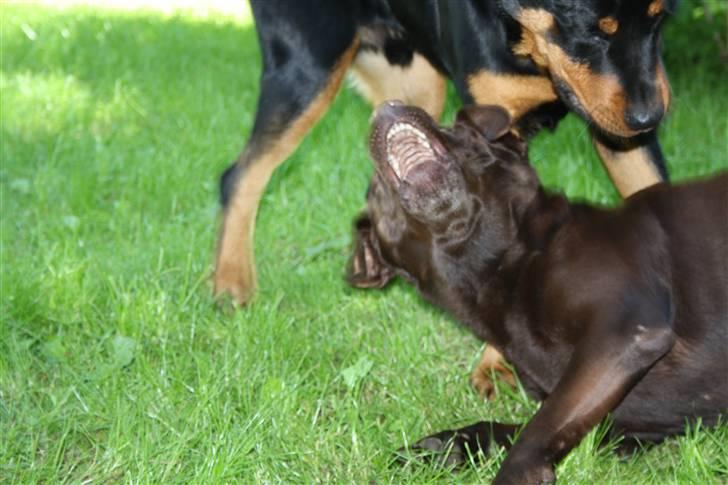
[[[599,130],[653,130],[670,88],[660,26],[676,0],[502,0],[521,26],[514,52],[546,70],[561,99]]]

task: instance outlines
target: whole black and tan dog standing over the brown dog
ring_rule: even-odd
[[[675,2],[251,0],[263,74],[250,140],[221,180],[215,292],[252,296],[263,190],[350,69],[373,103],[402,99],[435,118],[447,78],[466,104],[505,106],[524,134],[572,110],[623,195],[663,179],[660,24]]]

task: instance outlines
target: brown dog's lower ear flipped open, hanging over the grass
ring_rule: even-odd
[[[369,215],[362,214],[354,223],[354,254],[349,260],[346,281],[355,288],[384,288],[394,276],[374,241]]]

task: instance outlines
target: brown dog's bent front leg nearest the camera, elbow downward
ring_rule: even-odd
[[[674,342],[667,324],[620,324],[586,335],[556,388],[513,445],[494,483],[555,480],[554,464],[624,398]]]

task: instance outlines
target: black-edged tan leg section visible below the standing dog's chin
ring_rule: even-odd
[[[592,139],[622,197],[669,180],[656,132],[638,135],[628,142],[615,142],[597,133]]]

